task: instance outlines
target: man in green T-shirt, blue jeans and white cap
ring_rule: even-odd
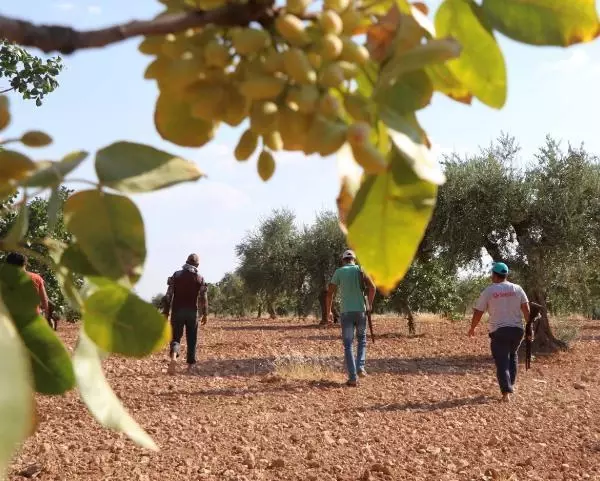
[[[331,307],[336,292],[341,297],[342,341],[344,343],[344,360],[348,372],[348,386],[357,386],[357,376],[367,375],[365,360],[367,354],[367,309],[373,304],[375,285],[373,281],[356,264],[356,255],[347,250],[342,255],[342,267],[338,268],[327,291],[327,316],[332,320]],[[364,290],[367,290],[368,302]],[[354,356],[354,332],[356,331],[357,349]]]

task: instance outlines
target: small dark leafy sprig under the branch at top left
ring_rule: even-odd
[[[0,41],[0,78],[6,78],[10,88],[26,100],[42,105],[44,97],[58,87],[56,77],[62,70],[60,57],[43,59],[6,41]]]

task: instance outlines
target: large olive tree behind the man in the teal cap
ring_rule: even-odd
[[[600,163],[550,138],[525,168],[516,167],[518,153],[515,140],[503,136],[479,155],[448,158],[430,230],[451,262],[475,261],[485,250],[508,263],[530,300],[547,310],[553,284],[600,262]],[[565,347],[545,315],[533,347]]]

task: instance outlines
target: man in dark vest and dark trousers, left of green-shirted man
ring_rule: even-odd
[[[196,345],[198,342],[198,319],[206,324],[208,313],[207,286],[198,273],[200,264],[197,254],[190,254],[181,268],[168,280],[169,288],[163,302],[163,314],[170,316],[172,339],[169,349],[169,374],[174,374],[185,329],[187,343],[187,369],[194,372]]]

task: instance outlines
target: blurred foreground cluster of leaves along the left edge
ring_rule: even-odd
[[[5,109],[0,109],[2,128],[6,128],[10,123],[8,100],[0,99],[0,107]],[[0,145],[21,142],[42,147],[51,140],[43,132],[30,131],[0,140]],[[0,407],[10,408],[13,418],[0,433],[1,471],[14,447],[31,430],[33,388],[43,394],[62,394],[77,385],[100,422],[156,449],[102,374],[101,351],[142,357],[160,349],[170,336],[165,318],[131,291],[146,255],[139,210],[128,197],[113,194],[107,187],[125,192],[156,190],[197,180],[201,174],[183,159],[120,142],[98,152],[100,182],[96,189],[74,193],[62,184],[86,157],[86,152],[79,151],[57,162],[34,162],[20,152],[0,150],[0,186],[5,192],[0,247],[26,254],[31,268],[44,275],[51,300],[59,306],[66,300],[70,316],[80,312],[83,320],[71,360],[46,320],[37,314],[39,298],[29,277],[9,265],[0,269],[3,354],[11,357],[11,367],[2,371],[0,385],[10,385],[3,392],[12,393],[10,399],[2,396]],[[31,189],[39,188],[49,189],[50,196],[28,202]],[[20,403],[18,409],[14,402]]]

